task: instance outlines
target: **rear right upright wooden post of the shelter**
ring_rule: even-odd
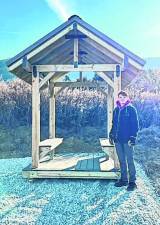
[[[112,127],[112,115],[113,115],[113,91],[108,85],[108,95],[107,95],[107,137],[109,138],[109,132]]]

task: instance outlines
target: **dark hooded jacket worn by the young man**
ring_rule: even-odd
[[[112,129],[110,137],[114,142],[128,143],[135,140],[139,129],[139,121],[135,107],[128,100],[123,107],[117,101],[113,111]]]

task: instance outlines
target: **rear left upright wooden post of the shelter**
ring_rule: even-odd
[[[49,138],[55,138],[56,129],[55,129],[55,87],[54,84],[49,84]]]

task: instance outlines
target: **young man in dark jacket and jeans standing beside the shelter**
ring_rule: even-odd
[[[118,93],[117,106],[113,111],[112,129],[109,141],[115,144],[120,162],[121,178],[115,183],[116,187],[127,186],[128,191],[137,188],[136,170],[133,161],[133,150],[138,132],[137,111],[125,91]],[[128,167],[128,173],[127,173]]]

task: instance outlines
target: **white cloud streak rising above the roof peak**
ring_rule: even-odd
[[[61,20],[66,21],[71,16],[68,6],[62,0],[46,0],[46,2]]]

